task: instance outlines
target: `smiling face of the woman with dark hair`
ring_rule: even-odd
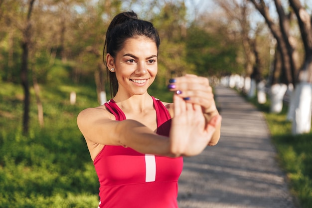
[[[119,93],[132,96],[147,92],[157,74],[157,47],[153,40],[143,36],[129,38],[112,59]]]

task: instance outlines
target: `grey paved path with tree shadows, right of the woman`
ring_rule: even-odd
[[[230,88],[215,90],[221,139],[184,159],[179,208],[296,208],[262,113]]]

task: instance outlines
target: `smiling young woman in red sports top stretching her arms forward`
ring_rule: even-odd
[[[133,11],[116,15],[108,27],[113,99],[77,118],[100,182],[99,208],[177,208],[182,156],[219,140],[221,116],[207,78],[170,79],[173,103],[148,94],[159,44],[153,24]]]

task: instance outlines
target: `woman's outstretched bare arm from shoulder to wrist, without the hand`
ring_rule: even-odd
[[[103,108],[83,110],[77,117],[77,124],[88,146],[115,145],[131,147],[143,154],[176,155],[171,153],[167,137],[157,135],[135,120],[112,120],[110,113]]]

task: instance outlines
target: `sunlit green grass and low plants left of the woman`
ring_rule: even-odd
[[[22,105],[14,91],[19,86],[1,85],[11,90],[0,90],[0,208],[96,208],[98,179],[76,125],[82,109],[98,105],[96,93],[90,87],[43,86],[45,127],[37,124],[32,99],[24,136]],[[78,94],[76,105],[69,104],[70,90]]]

